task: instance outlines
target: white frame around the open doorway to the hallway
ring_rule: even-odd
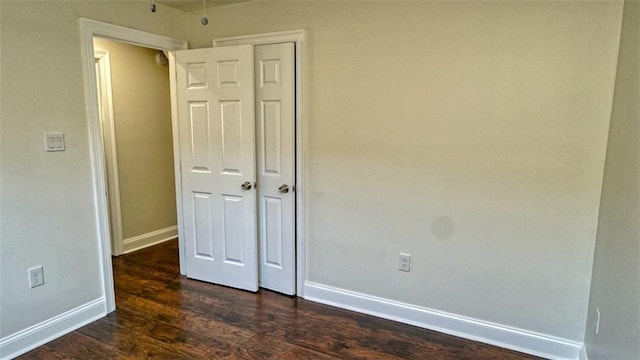
[[[158,50],[183,50],[187,48],[187,42],[172,39],[166,36],[149,33],[146,31],[131,29],[113,25],[101,21],[80,18],[80,36],[82,49],[82,70],[84,75],[85,106],[87,111],[87,123],[89,128],[89,149],[91,152],[91,169],[93,175],[93,194],[96,216],[96,229],[99,245],[100,270],[102,273],[103,295],[105,297],[106,312],[116,309],[115,292],[113,287],[113,268],[111,264],[111,231],[109,229],[109,206],[107,201],[107,186],[105,179],[104,144],[102,129],[100,126],[100,114],[98,112],[98,90],[96,80],[96,67],[94,60],[93,38],[104,37],[132,45],[143,46]],[[174,58],[169,53],[169,68],[175,68]],[[171,101],[175,103],[175,84],[171,82]],[[178,144],[177,113],[172,106],[171,117],[173,124],[174,164],[176,168],[176,201],[178,210],[178,234],[182,234],[182,198],[180,193],[180,157],[176,151]],[[180,237],[181,238],[181,237]],[[182,271],[183,259],[180,259]]]

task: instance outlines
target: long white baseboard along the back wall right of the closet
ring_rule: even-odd
[[[305,299],[549,359],[578,359],[582,344],[389,299],[305,283]]]

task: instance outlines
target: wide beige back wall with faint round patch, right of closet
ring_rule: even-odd
[[[582,340],[621,3],[208,14],[191,47],[308,30],[308,280]]]

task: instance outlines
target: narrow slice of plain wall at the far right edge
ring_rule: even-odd
[[[640,356],[640,3],[625,2],[585,343],[589,359]],[[600,330],[596,329],[596,308]]]

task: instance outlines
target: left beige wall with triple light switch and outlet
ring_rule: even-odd
[[[103,296],[78,18],[186,37],[182,12],[144,1],[1,3],[0,338]],[[45,153],[45,132],[66,151]]]

